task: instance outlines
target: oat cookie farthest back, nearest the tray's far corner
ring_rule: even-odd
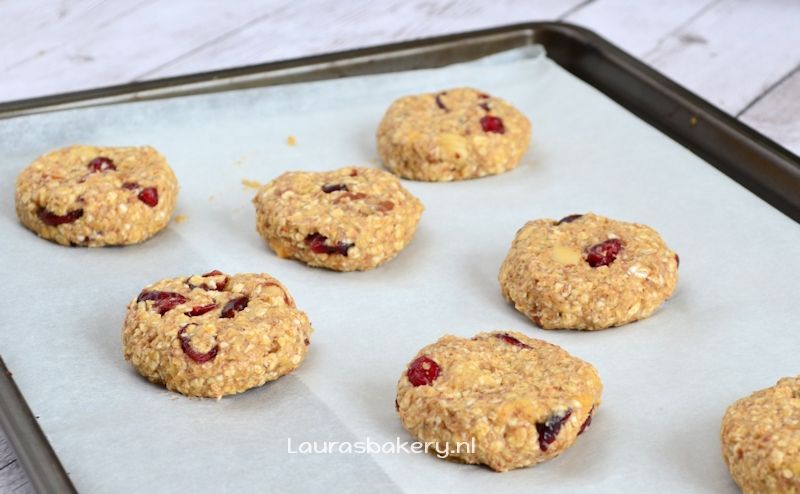
[[[511,170],[530,139],[531,124],[516,108],[458,88],[392,103],[378,127],[378,154],[401,177],[444,182]]]

